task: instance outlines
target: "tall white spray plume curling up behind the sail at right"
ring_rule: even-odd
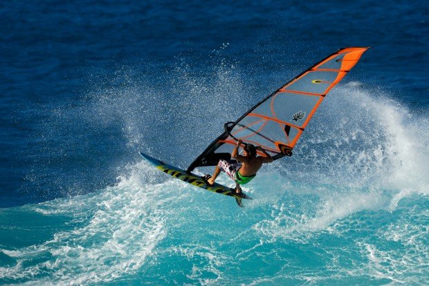
[[[427,196],[428,123],[426,115],[412,114],[383,93],[340,86],[294,155],[264,177],[259,188],[270,184],[271,196],[284,196],[271,200],[271,218],[253,228],[270,241],[302,241],[303,233],[329,229],[354,213],[392,212],[403,198]]]

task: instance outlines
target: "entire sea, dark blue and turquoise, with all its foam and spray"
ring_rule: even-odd
[[[425,1],[3,1],[0,284],[427,283],[428,15]],[[185,168],[347,46],[371,48],[246,209],[139,157]]]

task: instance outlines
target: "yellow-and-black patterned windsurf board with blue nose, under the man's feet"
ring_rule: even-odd
[[[199,175],[195,175],[194,173],[187,172],[185,170],[182,170],[176,166],[171,166],[169,164],[165,164],[164,162],[153,158],[143,152],[140,152],[140,155],[142,155],[147,162],[151,163],[152,165],[156,166],[156,169],[163,171],[164,173],[167,173],[168,175],[171,175],[174,178],[177,178],[179,180],[182,180],[183,182],[187,182],[188,184],[192,184],[194,186],[206,189],[208,191],[212,191],[215,193],[221,193],[225,196],[234,197],[237,201],[237,204],[240,207],[243,207],[243,204],[241,204],[241,199],[247,199],[247,200],[253,200],[253,198],[250,198],[244,193],[241,193],[241,196],[237,196],[235,193],[235,190],[226,186],[223,186],[223,184],[218,184],[215,182],[212,186],[207,184],[203,178]]]

